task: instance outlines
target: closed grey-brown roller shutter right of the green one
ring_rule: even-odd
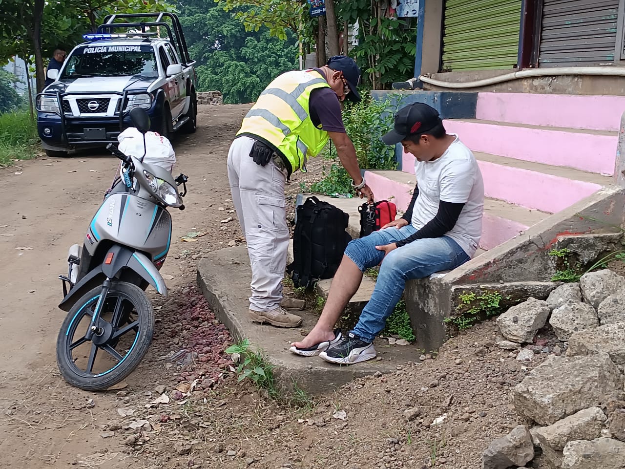
[[[619,0],[544,0],[541,67],[613,63]]]

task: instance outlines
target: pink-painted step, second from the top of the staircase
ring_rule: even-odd
[[[566,166],[597,174],[614,173],[618,134],[607,131],[545,128],[493,121],[444,121],[473,151]]]

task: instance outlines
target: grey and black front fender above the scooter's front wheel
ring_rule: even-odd
[[[135,252],[124,246],[115,245],[104,256],[104,263],[89,271],[63,298],[59,308],[63,311],[71,310],[74,303],[106,277],[115,278],[121,270],[128,268],[137,273],[143,280],[152,285],[163,296],[168,296],[167,286],[158,269],[142,253]]]

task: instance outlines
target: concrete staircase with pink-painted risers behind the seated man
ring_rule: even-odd
[[[454,313],[462,291],[497,288],[516,302],[544,297],[555,287],[546,251],[561,236],[606,231],[609,219],[620,224],[622,191],[612,186],[612,174],[625,96],[415,91],[404,92],[401,101],[400,107],[420,101],[439,110],[447,131],[474,152],[486,191],[476,256],[407,286],[419,347],[441,345],[442,320]],[[414,157],[401,146],[397,156],[396,171],[364,176],[377,200],[394,201],[403,211],[415,185]],[[356,231],[361,201],[331,202],[350,214]],[[597,213],[604,219],[590,218]]]

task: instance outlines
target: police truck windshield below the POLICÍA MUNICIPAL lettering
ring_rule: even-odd
[[[61,79],[126,75],[158,77],[151,46],[85,46],[76,49],[69,57]]]

